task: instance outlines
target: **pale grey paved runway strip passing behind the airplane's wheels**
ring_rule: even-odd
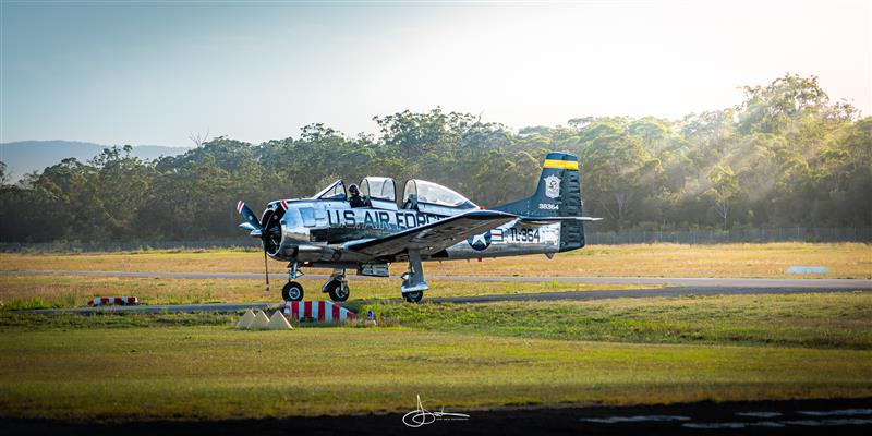
[[[256,272],[165,272],[165,271],[94,271],[94,270],[4,270],[4,276],[96,276],[96,277],[134,277],[134,278],[171,278],[171,279],[230,279],[263,280],[263,274]],[[270,280],[286,280],[286,274],[270,274]],[[307,274],[306,279],[327,280],[328,275]],[[349,280],[384,279],[349,275]],[[390,277],[399,280],[398,276]],[[559,283],[618,283],[618,284],[666,284],[674,287],[727,287],[727,288],[814,288],[814,289],[850,289],[872,290],[869,279],[738,279],[706,277],[530,277],[530,276],[436,276],[427,275],[433,281],[484,281],[484,282],[559,282]]]

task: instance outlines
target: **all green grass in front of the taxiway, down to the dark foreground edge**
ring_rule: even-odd
[[[380,327],[0,314],[0,416],[231,419],[872,396],[872,295],[374,304]],[[390,327],[385,327],[390,326]]]

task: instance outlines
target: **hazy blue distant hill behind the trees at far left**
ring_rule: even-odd
[[[108,146],[76,141],[19,141],[0,144],[0,160],[7,164],[10,180],[14,183],[31,171],[43,171],[68,157],[86,161],[106,147]],[[133,147],[133,155],[141,159],[156,159],[160,156],[181,155],[189,149],[191,147],[136,145]]]

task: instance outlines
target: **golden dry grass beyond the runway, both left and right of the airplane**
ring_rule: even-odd
[[[857,243],[729,245],[595,245],[557,255],[506,257],[479,262],[427,263],[431,275],[639,276],[783,278],[790,266],[825,266],[820,278],[872,278],[872,246]],[[270,262],[270,269],[283,264]],[[405,268],[395,265],[392,272]],[[122,271],[263,270],[254,252],[135,252],[111,254],[0,254],[0,269],[87,269]],[[311,269],[311,271],[315,271]]]

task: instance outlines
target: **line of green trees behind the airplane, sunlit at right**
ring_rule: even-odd
[[[111,147],[15,184],[0,162],[0,240],[242,237],[234,210],[305,197],[331,181],[443,183],[483,206],[530,195],[548,150],[579,156],[597,230],[872,226],[872,117],[831,101],[814,76],[743,88],[736,107],[687,116],[583,117],[513,132],[440,108],[375,117],[377,134],[325,124],[249,144],[220,136],[141,160]]]

